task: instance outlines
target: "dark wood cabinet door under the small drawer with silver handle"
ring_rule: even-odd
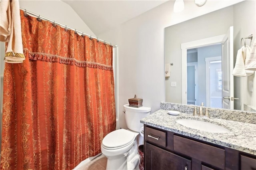
[[[146,170],[191,170],[191,160],[146,143]]]

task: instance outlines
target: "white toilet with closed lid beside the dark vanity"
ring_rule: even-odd
[[[150,114],[150,107],[124,105],[128,129],[118,129],[107,134],[101,144],[101,152],[107,160],[106,170],[134,170],[139,162],[138,142],[143,144],[140,119]]]

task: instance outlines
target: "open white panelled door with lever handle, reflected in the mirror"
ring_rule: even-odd
[[[222,40],[222,108],[234,109],[233,26]]]

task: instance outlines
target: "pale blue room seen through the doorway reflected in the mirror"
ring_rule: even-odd
[[[221,48],[216,44],[187,50],[187,104],[222,108]]]

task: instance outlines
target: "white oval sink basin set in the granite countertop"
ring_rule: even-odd
[[[194,119],[178,119],[178,120],[176,120],[176,122],[185,127],[194,128],[197,130],[203,130],[206,132],[212,132],[212,133],[230,132],[230,130],[228,130],[227,128],[224,128],[220,125],[215,125],[210,122],[197,121]]]

